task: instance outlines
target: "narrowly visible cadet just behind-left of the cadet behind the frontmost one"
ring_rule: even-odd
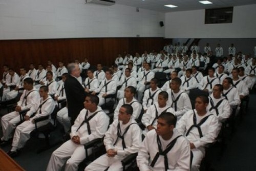
[[[142,106],[144,113],[146,112],[147,108],[152,104],[157,102],[158,94],[162,91],[158,87],[158,80],[157,78],[153,78],[150,81],[150,89],[146,89],[144,92],[144,97],[142,100]]]

